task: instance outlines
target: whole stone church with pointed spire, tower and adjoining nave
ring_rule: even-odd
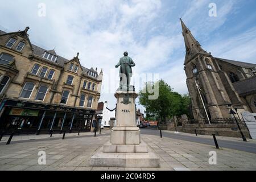
[[[195,119],[232,118],[230,108],[256,113],[256,64],[214,57],[181,20],[185,73]],[[207,113],[207,114],[206,114]]]

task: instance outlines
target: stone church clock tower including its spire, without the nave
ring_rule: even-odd
[[[234,91],[232,100],[230,99],[226,88],[230,87],[232,90],[232,83],[221,71],[216,58],[201,48],[183,20],[181,20],[181,26],[186,49],[184,69],[194,118],[205,120],[232,118],[229,109],[231,106],[244,110],[240,97]]]

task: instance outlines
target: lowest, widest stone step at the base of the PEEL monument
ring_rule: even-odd
[[[103,147],[90,159],[94,167],[160,167],[159,157],[148,153],[105,153]]]

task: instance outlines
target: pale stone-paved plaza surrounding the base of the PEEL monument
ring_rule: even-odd
[[[55,134],[53,138],[49,138],[49,135],[16,136],[10,145],[6,145],[7,137],[3,137],[0,142],[0,170],[256,170],[256,154],[228,148],[216,150],[206,144],[145,134],[142,139],[159,156],[160,168],[91,167],[91,156],[110,140],[109,130],[102,131],[97,137],[94,137],[93,133],[81,133],[80,136],[74,133],[66,134],[64,140],[61,138],[61,134]],[[46,152],[46,165],[38,164],[39,151]],[[208,162],[210,151],[217,152],[216,165],[210,165]]]

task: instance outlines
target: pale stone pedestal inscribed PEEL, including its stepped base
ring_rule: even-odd
[[[134,91],[115,93],[117,98],[116,125],[111,131],[110,142],[91,158],[98,167],[159,167],[159,158],[141,140],[141,130],[136,123]]]

